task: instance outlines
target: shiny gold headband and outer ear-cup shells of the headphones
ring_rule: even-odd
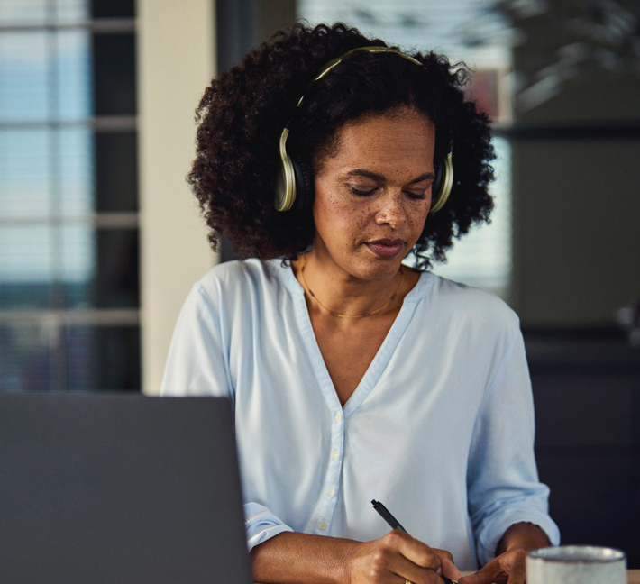
[[[320,71],[318,72],[317,77],[312,79],[309,83],[311,85],[318,79],[324,78],[325,75],[331,71],[340,61],[342,61],[347,55],[351,55],[352,52],[356,50],[366,50],[370,53],[377,52],[386,52],[386,53],[396,53],[403,59],[410,60],[412,63],[419,65],[422,67],[422,63],[414,59],[413,57],[406,55],[403,52],[395,49],[389,49],[387,47],[358,47],[357,49],[348,50],[347,52],[340,55],[335,59],[330,60],[326,63]],[[308,87],[308,86],[307,86]],[[302,105],[305,96],[300,97],[297,102],[297,107]],[[288,123],[285,129],[280,134],[279,141],[279,151],[280,151],[280,160],[282,164],[280,165],[279,173],[278,173],[278,181],[276,183],[276,197],[273,202],[273,205],[276,208],[276,211],[288,211],[294,204],[296,200],[296,174],[293,169],[293,162],[287,153],[287,138],[288,138]],[[449,195],[451,194],[451,189],[453,187],[453,163],[451,158],[451,152],[447,155],[446,160],[444,160],[444,168],[443,168],[443,182],[440,188],[440,193],[438,193],[438,197],[435,200],[434,205],[431,206],[429,213],[435,213],[443,208],[443,205],[446,203]]]

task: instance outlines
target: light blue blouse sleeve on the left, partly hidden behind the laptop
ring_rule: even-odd
[[[224,313],[201,284],[191,289],[171,339],[161,396],[220,396],[235,402],[228,367],[230,335]],[[266,506],[245,502],[244,525],[249,550],[291,527]]]

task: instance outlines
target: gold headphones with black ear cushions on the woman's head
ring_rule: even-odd
[[[404,59],[410,60],[412,63],[416,63],[416,65],[419,65],[420,67],[423,66],[419,60],[414,59],[399,50],[388,49],[387,47],[359,47],[358,49],[348,50],[340,57],[330,60],[323,68],[320,69],[318,76],[313,79],[311,83],[324,78],[329,71],[340,63],[340,61],[356,50],[366,50],[370,53],[395,53]],[[309,85],[311,85],[311,83],[309,83]],[[304,99],[305,96],[300,97],[297,102],[297,107],[302,105]],[[277,211],[288,211],[293,208],[294,204],[297,209],[305,209],[310,207],[311,202],[314,200],[314,177],[312,170],[308,168],[306,164],[300,162],[295,155],[289,155],[287,152],[289,123],[291,123],[290,120],[280,134],[280,167],[278,182],[276,184],[276,196],[274,199],[274,206]],[[434,165],[434,173],[435,178],[432,193],[437,193],[437,196],[432,198],[432,205],[429,213],[440,211],[451,193],[451,189],[453,187],[453,163],[451,159],[451,152],[447,154],[442,165]]]

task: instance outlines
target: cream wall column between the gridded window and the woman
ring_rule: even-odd
[[[156,394],[180,307],[215,264],[185,177],[215,74],[213,0],[138,0],[142,389]]]

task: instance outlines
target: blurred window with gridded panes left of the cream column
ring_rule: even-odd
[[[0,23],[0,389],[140,388],[133,0]]]

